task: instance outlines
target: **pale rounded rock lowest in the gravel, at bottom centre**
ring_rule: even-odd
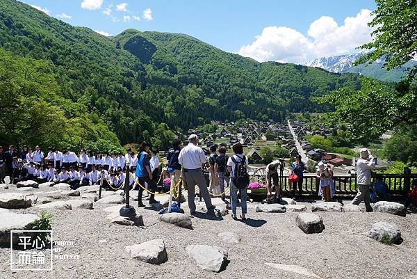
[[[220,272],[227,260],[227,250],[217,246],[189,245],[188,256],[202,269]]]

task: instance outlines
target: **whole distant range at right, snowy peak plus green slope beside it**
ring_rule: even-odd
[[[320,57],[306,63],[306,65],[320,67],[329,72],[362,74],[365,77],[372,77],[389,82],[400,81],[406,75],[407,68],[417,65],[417,61],[412,60],[405,63],[402,67],[387,71],[382,67],[384,65],[384,59],[380,59],[370,65],[362,64],[354,66],[354,61],[357,61],[362,55],[363,53]]]

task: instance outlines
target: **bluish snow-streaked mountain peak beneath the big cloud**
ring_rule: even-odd
[[[347,72],[354,61],[357,61],[363,54],[347,54],[338,56],[328,56],[316,58],[313,61],[306,63],[310,67],[321,67],[329,72]]]

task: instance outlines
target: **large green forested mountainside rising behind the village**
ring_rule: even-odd
[[[188,35],[126,30],[106,38],[15,0],[0,1],[0,48],[5,50],[0,52],[1,61],[8,61],[0,69],[10,77],[13,73],[7,69],[12,66],[18,72],[35,72],[33,77],[49,72],[56,84],[53,91],[20,93],[45,104],[53,102],[67,122],[78,119],[80,129],[67,135],[72,138],[84,131],[84,136],[70,143],[74,147],[95,146],[97,138],[113,131],[122,144],[147,139],[164,148],[174,136],[170,130],[213,119],[279,121],[288,111],[322,111],[310,97],[341,86],[357,89],[361,83],[356,74],[257,63]],[[13,80],[22,83],[24,79]],[[8,94],[8,86],[2,88],[0,103]],[[6,119],[5,110],[0,113]],[[85,132],[92,130],[91,125],[100,129]],[[18,128],[14,136],[10,133],[0,136],[0,141],[23,142]],[[118,145],[114,138],[108,141]]]

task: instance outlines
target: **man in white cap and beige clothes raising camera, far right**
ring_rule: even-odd
[[[369,203],[369,187],[370,187],[370,170],[375,168],[375,160],[369,150],[362,148],[361,157],[357,161],[357,184],[358,193],[352,200],[353,205],[359,205],[361,201],[365,202],[366,212],[373,212]]]

